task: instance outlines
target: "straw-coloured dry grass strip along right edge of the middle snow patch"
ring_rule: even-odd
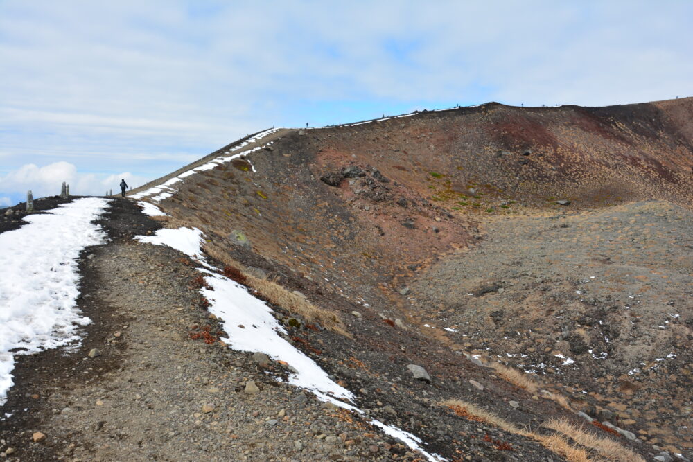
[[[275,281],[258,278],[253,272],[247,271],[243,265],[229,257],[222,247],[213,242],[205,243],[203,245],[203,250],[204,253],[211,256],[211,258],[220,261],[224,265],[227,265],[227,267],[236,269],[236,272],[245,277],[246,285],[256,290],[263,299],[274,305],[280,306],[288,312],[296,314],[308,323],[319,323],[320,326],[327,330],[331,330],[332,332],[346,337],[351,337],[351,334],[344,328],[344,324],[337,314],[328,310],[323,310],[322,308],[317,308],[317,306],[310,303],[305,296],[290,292]]]

